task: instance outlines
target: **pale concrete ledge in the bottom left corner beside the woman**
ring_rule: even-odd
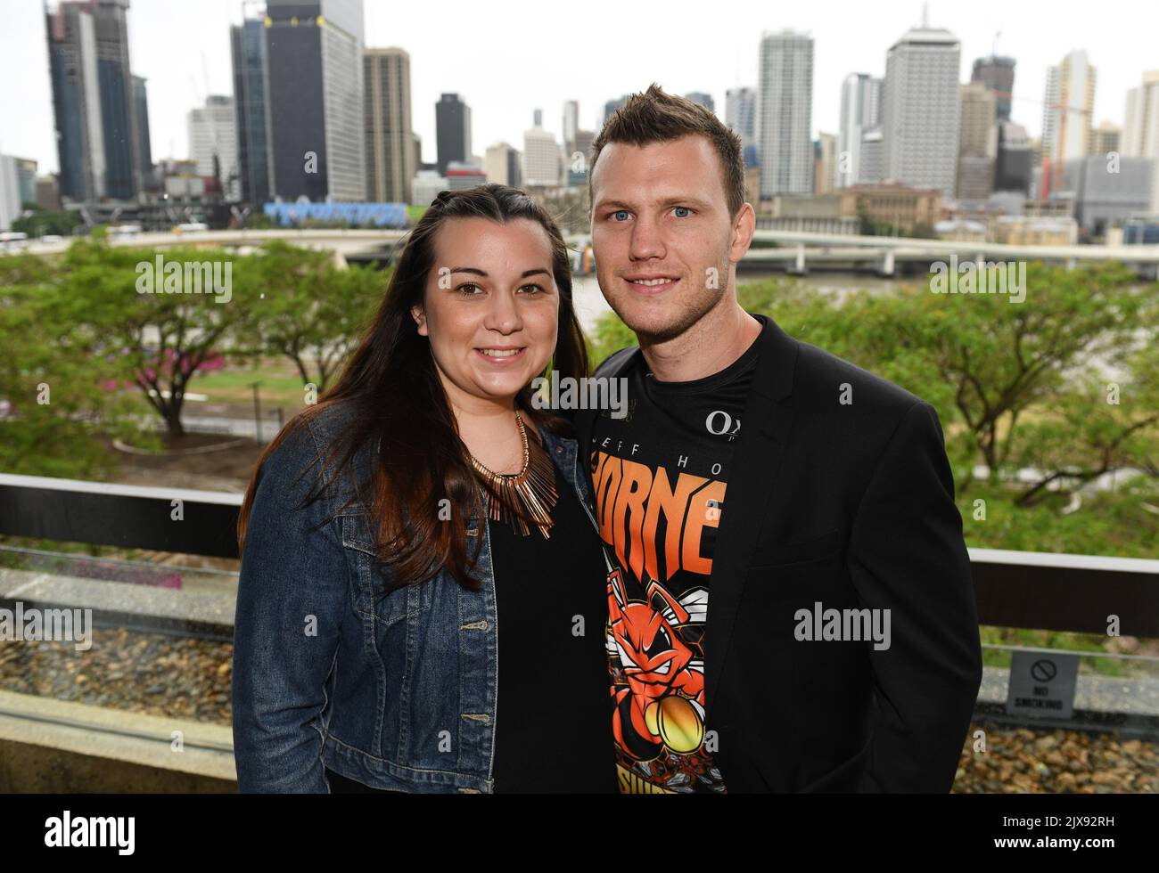
[[[236,778],[223,725],[0,691],[0,792],[224,793]]]

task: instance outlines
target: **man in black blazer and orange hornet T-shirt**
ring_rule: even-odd
[[[576,415],[625,792],[947,792],[982,677],[938,416],[736,298],[739,139],[653,86],[591,149],[628,412]],[[726,493],[727,492],[727,493]]]

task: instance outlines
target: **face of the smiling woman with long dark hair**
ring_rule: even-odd
[[[560,292],[547,232],[530,219],[449,219],[435,266],[411,309],[455,405],[510,402],[555,351]]]

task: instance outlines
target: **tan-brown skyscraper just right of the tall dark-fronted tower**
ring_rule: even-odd
[[[410,130],[410,56],[402,49],[367,49],[366,199],[410,203],[414,133]]]

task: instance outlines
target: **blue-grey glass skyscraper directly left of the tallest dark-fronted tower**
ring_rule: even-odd
[[[229,46],[233,56],[234,126],[238,131],[241,199],[260,205],[270,199],[270,191],[274,189],[265,25],[250,19],[231,27]]]

